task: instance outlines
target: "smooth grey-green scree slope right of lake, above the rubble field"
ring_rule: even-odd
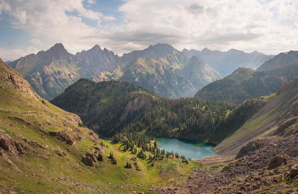
[[[263,106],[215,148],[218,154],[237,154],[239,148],[256,138],[297,133],[297,79],[283,84],[276,94],[254,100],[263,101]]]

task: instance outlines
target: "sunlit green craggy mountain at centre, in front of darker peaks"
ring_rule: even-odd
[[[92,76],[91,80],[124,80],[161,96],[177,98],[193,96],[203,86],[221,78],[221,74],[197,57],[189,59],[170,51],[158,58],[138,57],[121,68]]]

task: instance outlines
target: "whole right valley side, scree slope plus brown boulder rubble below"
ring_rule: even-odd
[[[298,80],[262,98],[243,126],[215,147],[216,156],[155,192],[298,193]]]

